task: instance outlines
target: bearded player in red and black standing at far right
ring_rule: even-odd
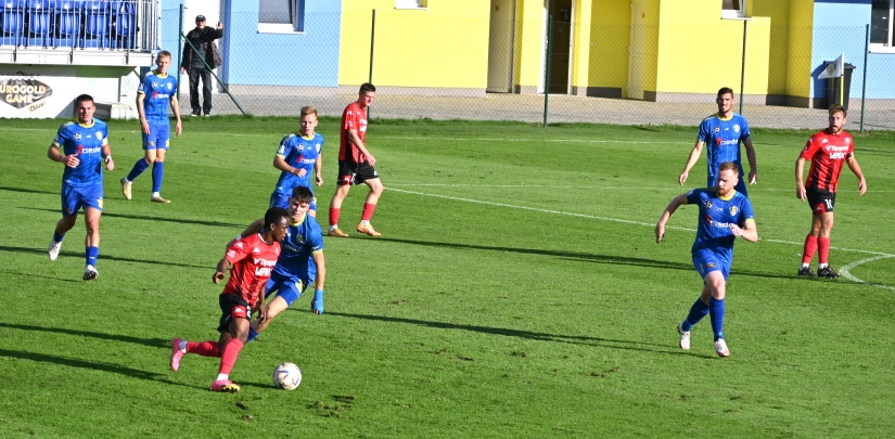
[[[844,165],[858,178],[858,191],[861,195],[867,192],[867,181],[855,158],[855,142],[852,135],[843,131],[845,126],[845,108],[842,105],[830,106],[830,126],[811,135],[798,159],[795,160],[795,196],[798,199],[808,199],[811,208],[811,232],[805,237],[805,247],[802,251],[801,276],[814,276],[810,263],[815,251],[818,251],[819,266],[817,275],[820,277],[839,277],[839,273],[828,263],[830,255],[830,232],[833,230],[833,206],[836,204],[839,176]],[[803,184],[803,169],[805,162],[811,160],[808,180]]]

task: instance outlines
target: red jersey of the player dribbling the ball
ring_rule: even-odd
[[[255,233],[233,243],[225,257],[233,267],[221,294],[238,294],[254,305],[277,266],[280,243],[267,244],[259,233]]]

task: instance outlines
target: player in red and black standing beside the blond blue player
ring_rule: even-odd
[[[376,88],[365,82],[360,86],[357,101],[351,102],[342,113],[342,134],[338,145],[338,178],[336,179],[335,194],[330,202],[330,236],[347,237],[348,234],[338,229],[338,216],[342,212],[342,202],[348,196],[354,184],[367,184],[370,193],[363,202],[363,212],[357,231],[370,236],[381,236],[370,224],[376,203],[382,195],[382,181],[376,173],[376,158],[366,146],[367,108],[376,96]]]

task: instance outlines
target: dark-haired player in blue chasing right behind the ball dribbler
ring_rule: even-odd
[[[289,308],[314,281],[311,311],[323,313],[323,284],[327,281],[327,263],[323,258],[323,233],[315,218],[307,215],[314,194],[307,186],[295,186],[289,198],[290,225],[286,237],[280,243],[282,253],[267,281],[265,296],[277,296],[267,306],[265,320],[252,322],[248,340],[255,339],[280,312]],[[259,219],[240,233],[233,242],[258,233],[264,227]]]

